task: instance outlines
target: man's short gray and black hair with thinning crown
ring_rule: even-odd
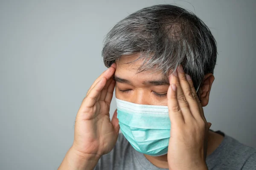
[[[121,56],[137,53],[138,59],[144,59],[139,72],[152,69],[168,76],[182,64],[199,87],[204,75],[213,73],[217,46],[209,28],[194,13],[155,5],[125,17],[105,38],[102,57],[106,67]]]

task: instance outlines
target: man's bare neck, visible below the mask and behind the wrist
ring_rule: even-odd
[[[207,156],[209,156],[222,142],[223,136],[218,133],[209,131],[208,144],[207,144]],[[169,168],[167,154],[163,156],[149,156],[145,155],[146,159],[150,161],[154,166],[159,168]]]

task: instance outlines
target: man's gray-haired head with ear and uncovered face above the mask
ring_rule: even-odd
[[[107,67],[116,62],[119,99],[166,105],[166,79],[182,64],[195,88],[201,85],[202,105],[208,104],[216,42],[209,28],[183,8],[157,5],[129,15],[108,33],[102,56]]]

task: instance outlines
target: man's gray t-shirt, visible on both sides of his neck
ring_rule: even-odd
[[[224,135],[224,134],[223,134]],[[236,139],[224,135],[218,148],[206,163],[209,170],[256,170],[256,149],[241,144]],[[119,134],[113,150],[101,157],[94,170],[168,170],[154,166],[142,153],[137,152]]]

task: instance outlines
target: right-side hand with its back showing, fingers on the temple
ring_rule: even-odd
[[[168,147],[170,170],[207,170],[207,123],[193,82],[180,65],[169,76],[167,92],[171,132]]]

